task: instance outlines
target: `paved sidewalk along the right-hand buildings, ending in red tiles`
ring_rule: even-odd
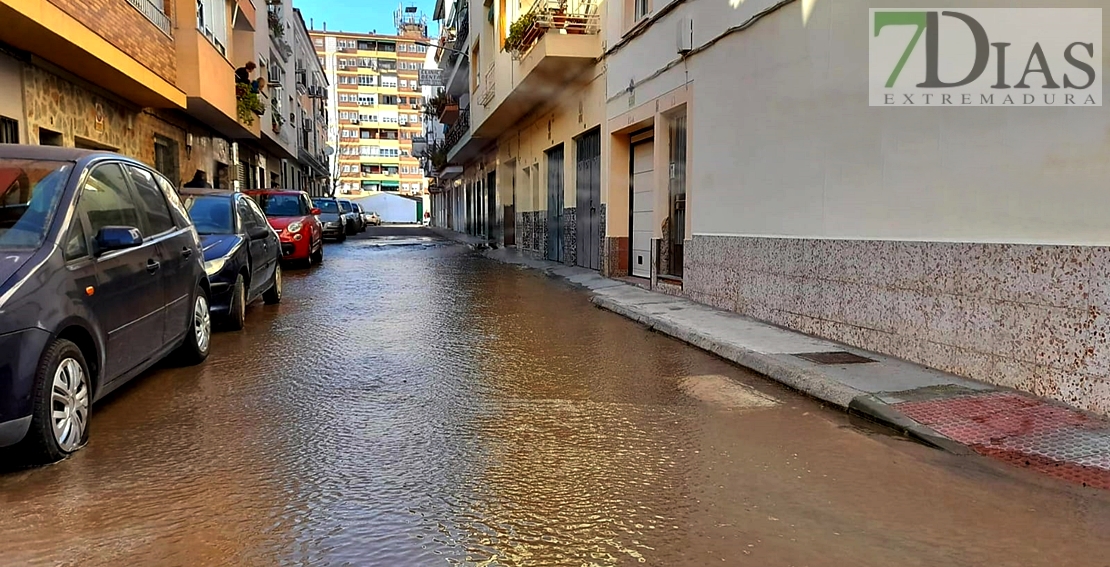
[[[436,232],[480,247],[485,243],[451,231]],[[564,277],[588,288],[599,307],[926,444],[957,454],[975,452],[1067,482],[1110,489],[1108,421],[1021,392],[650,292],[591,270],[532,259],[516,249],[484,254]]]

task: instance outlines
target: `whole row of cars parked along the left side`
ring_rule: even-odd
[[[178,189],[118,154],[0,144],[0,447],[80,449],[94,402],[167,356],[203,362],[213,322],[281,301],[283,263],[380,223],[350,201]]]

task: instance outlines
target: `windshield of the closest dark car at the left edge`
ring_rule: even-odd
[[[70,162],[0,158],[0,249],[37,249],[54,217]]]

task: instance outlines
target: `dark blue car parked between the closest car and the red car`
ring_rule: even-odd
[[[281,301],[281,240],[259,205],[243,193],[183,190],[201,236],[210,308],[231,330],[243,328],[246,306]]]

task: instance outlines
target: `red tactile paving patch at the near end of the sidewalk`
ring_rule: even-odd
[[[895,408],[976,452],[1110,489],[1110,423],[1031,396],[995,392]]]

